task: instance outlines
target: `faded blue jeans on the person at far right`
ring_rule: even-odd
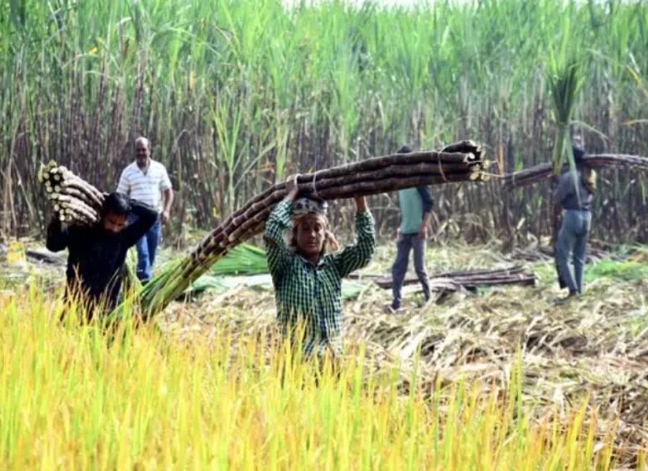
[[[592,214],[589,211],[568,209],[563,214],[563,224],[556,240],[556,262],[569,293],[583,293],[585,247],[591,224]],[[574,276],[569,270],[570,257],[574,263]]]

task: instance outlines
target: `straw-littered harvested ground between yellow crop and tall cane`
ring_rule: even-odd
[[[344,306],[348,357],[366,356],[366,381],[396,375],[403,397],[412,392],[416,369],[416,392],[422,399],[458,385],[505,398],[520,370],[518,400],[531,423],[541,426],[548,417],[571,423],[574,411],[586,404],[583,421],[594,428],[594,451],[609,440],[614,442],[616,467],[638,465],[648,445],[648,249],[615,247],[592,253],[596,256],[586,266],[586,295],[558,304],[564,293],[558,291],[553,264],[541,250],[502,255],[496,245],[431,247],[429,271],[515,262],[531,269],[538,282],[476,295],[454,293],[424,308],[415,305],[417,293],[408,293],[406,309],[398,315],[382,311],[390,293],[366,282],[362,293]],[[363,272],[386,273],[392,255],[391,247],[381,247]],[[30,278],[47,280],[54,295],[60,292],[60,266],[30,264],[26,271]],[[17,287],[25,283],[24,275],[11,273],[13,286],[3,291],[0,305],[25,292]],[[220,342],[227,331],[232,350],[262,339],[267,348],[259,358],[266,364],[272,363],[268,353],[276,351],[267,335],[274,326],[273,293],[264,286],[175,302],[159,325],[172,344]]]

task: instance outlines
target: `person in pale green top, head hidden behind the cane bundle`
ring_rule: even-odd
[[[398,154],[407,154],[412,149],[399,147]],[[401,307],[401,291],[407,273],[410,250],[414,249],[414,267],[423,288],[426,302],[430,300],[430,282],[425,266],[426,239],[432,218],[432,197],[427,187],[402,189],[398,192],[401,209],[401,224],[396,241],[396,260],[392,266],[393,300],[386,311],[395,313]]]

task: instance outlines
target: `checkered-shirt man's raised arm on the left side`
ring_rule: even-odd
[[[291,253],[286,248],[283,233],[290,227],[290,218],[293,212],[293,201],[297,197],[297,176],[291,176],[286,181],[288,194],[279,202],[270,213],[266,221],[266,230],[263,238],[266,242],[266,257],[272,278],[278,282],[282,278],[284,267]]]

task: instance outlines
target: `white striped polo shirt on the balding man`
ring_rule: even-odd
[[[162,211],[162,192],[171,188],[171,180],[165,166],[156,160],[142,171],[134,162],[121,172],[117,191],[125,193],[134,200],[145,202],[152,208]]]

